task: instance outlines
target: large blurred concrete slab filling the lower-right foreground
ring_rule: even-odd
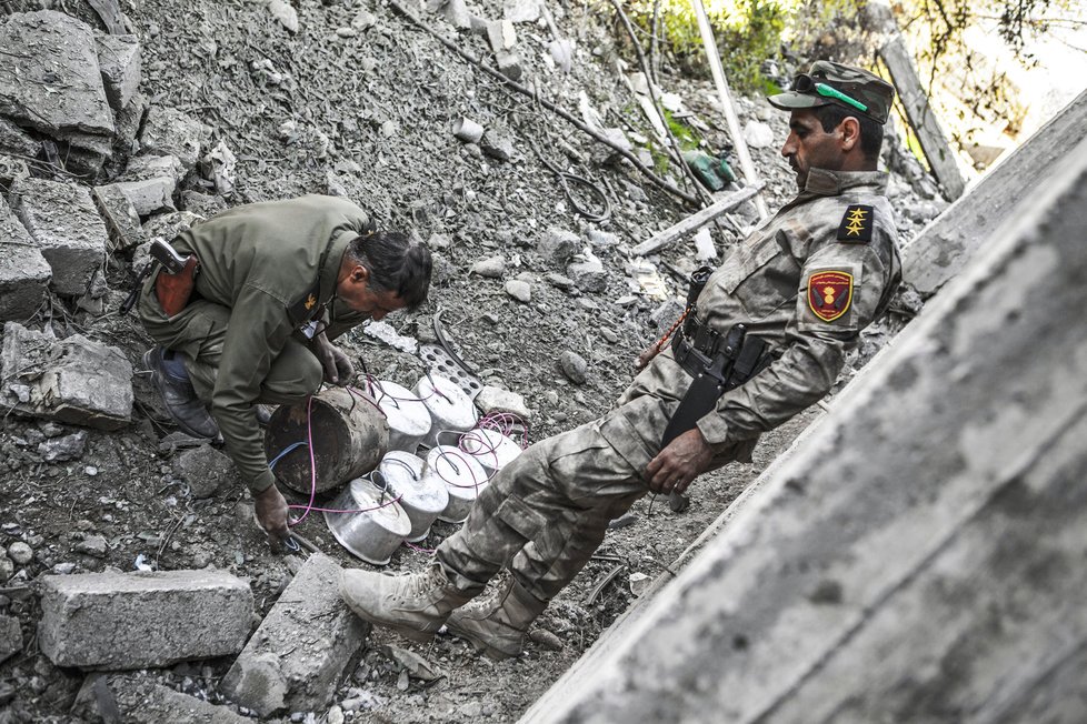
[[[1087,721],[1085,229],[1087,141],[522,721]]]

